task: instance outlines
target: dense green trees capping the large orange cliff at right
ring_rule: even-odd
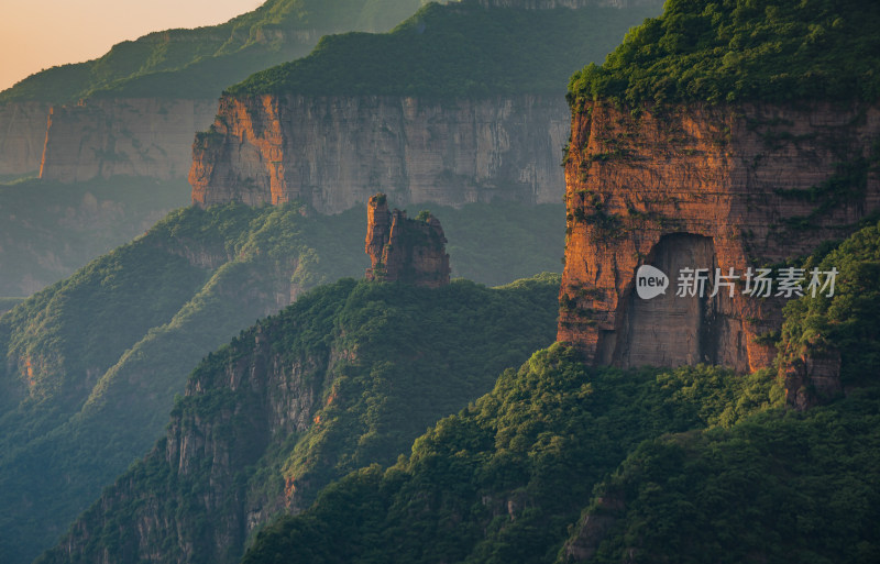
[[[569,100],[644,102],[880,98],[880,2],[669,0],[602,66],[569,82]]]

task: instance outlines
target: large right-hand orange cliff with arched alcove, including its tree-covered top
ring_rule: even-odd
[[[763,4],[667,2],[569,82],[558,338],[594,364],[769,366],[802,258],[880,212],[880,5]]]

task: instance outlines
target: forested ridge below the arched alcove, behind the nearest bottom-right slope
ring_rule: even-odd
[[[393,466],[353,472],[308,511],[267,527],[242,562],[569,562],[563,541],[626,453],[768,409],[780,397],[772,379],[708,366],[593,369],[556,344],[505,371],[492,392],[438,421]],[[601,509],[616,506],[609,496]],[[593,539],[614,527],[591,524]]]

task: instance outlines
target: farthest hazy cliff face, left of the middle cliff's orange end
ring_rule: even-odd
[[[215,115],[216,101],[100,99],[48,113],[40,177],[63,183],[127,175],[180,178],[193,132]]]

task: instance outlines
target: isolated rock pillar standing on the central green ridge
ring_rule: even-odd
[[[388,211],[384,193],[370,198],[366,208],[366,254],[372,266],[367,280],[404,281],[438,288],[449,284],[447,237],[433,215],[407,219],[406,212]]]

